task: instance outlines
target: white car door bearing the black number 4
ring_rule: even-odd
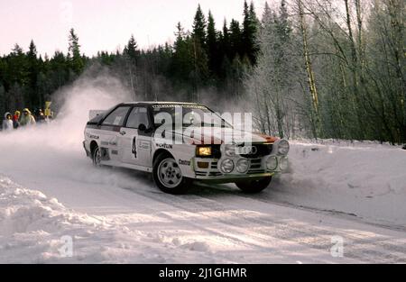
[[[140,131],[140,125],[144,129]],[[120,131],[122,162],[152,167],[152,123],[146,106],[134,106]]]

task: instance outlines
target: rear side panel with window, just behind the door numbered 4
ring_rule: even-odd
[[[120,161],[118,138],[121,135],[119,132],[125,123],[125,117],[127,116],[130,108],[131,107],[129,105],[118,106],[115,110],[108,114],[100,124],[100,152],[102,154],[102,161],[107,164],[115,165]]]

